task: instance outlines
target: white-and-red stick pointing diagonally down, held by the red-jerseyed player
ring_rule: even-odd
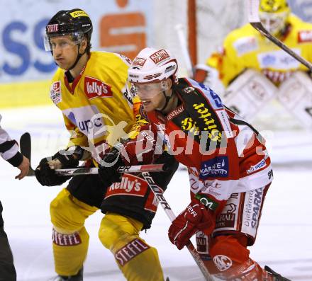
[[[167,214],[167,217],[169,217],[170,221],[172,222],[176,217],[171,207],[169,206],[167,200],[165,199],[162,189],[160,189],[156,185],[155,181],[152,179],[149,172],[143,172],[142,176],[146,180],[152,192],[155,194],[155,197],[157,198],[158,202],[160,202],[160,205],[162,205],[162,208]],[[193,243],[191,243],[191,241],[189,241],[189,243],[186,244],[186,248],[189,250],[189,253],[191,253],[191,256],[194,258],[196,264],[201,270],[201,273],[203,273],[205,279],[207,281],[213,281],[213,277],[208,272],[206,266],[204,265],[203,260],[201,260],[201,256],[199,256],[199,253],[196,251],[196,248],[194,247]]]

